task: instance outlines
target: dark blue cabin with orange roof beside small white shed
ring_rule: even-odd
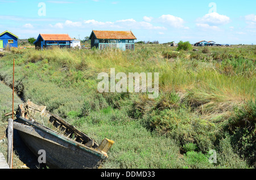
[[[34,42],[36,49],[52,48],[71,48],[72,38],[67,34],[39,34]]]

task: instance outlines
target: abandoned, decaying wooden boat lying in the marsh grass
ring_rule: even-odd
[[[98,145],[92,138],[65,122],[59,116],[31,101],[19,105],[14,128],[28,148],[36,155],[46,154],[46,164],[49,168],[84,169],[100,168],[108,158],[107,152],[113,141],[104,139]],[[49,125],[44,126],[35,117],[46,118]],[[41,156],[40,156],[41,157]]]

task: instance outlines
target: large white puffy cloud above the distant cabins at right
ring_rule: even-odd
[[[230,22],[230,18],[225,15],[220,15],[217,12],[212,12],[203,16],[203,18],[197,19],[200,24],[209,25],[223,25]]]

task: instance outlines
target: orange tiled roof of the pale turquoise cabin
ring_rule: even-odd
[[[98,39],[137,40],[131,31],[93,31]]]

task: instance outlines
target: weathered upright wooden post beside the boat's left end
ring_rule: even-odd
[[[8,119],[8,149],[7,149],[7,163],[10,169],[13,169],[13,119]]]

